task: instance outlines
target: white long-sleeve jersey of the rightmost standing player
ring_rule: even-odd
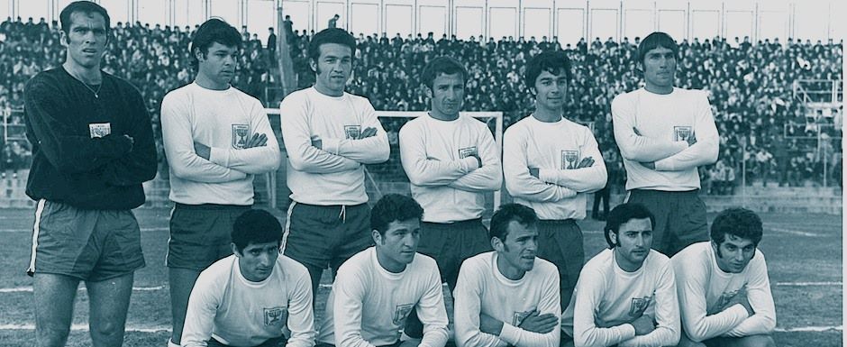
[[[627,190],[697,189],[697,167],[717,160],[720,139],[704,91],[675,87],[660,95],[637,89],[615,96],[612,118]],[[691,135],[697,143],[689,147],[685,139]],[[656,169],[641,162],[655,162]]]

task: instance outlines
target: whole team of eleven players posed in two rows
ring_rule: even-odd
[[[101,70],[105,9],[74,2],[60,22],[67,59],[25,92],[37,345],[67,340],[79,281],[93,344],[120,345],[133,273],[145,265],[131,209],[156,172],[150,116],[134,87]],[[293,200],[282,227],[251,209],[254,175],[276,170],[280,152],[260,102],[230,86],[240,47],[229,24],[201,25],[189,52],[194,83],[162,101],[175,203],[168,345],[440,347],[449,338],[442,281],[460,347],[772,344],[760,220],[726,211],[709,242],[697,166],[715,161],[718,136],[706,94],[673,87],[678,51],[667,34],[638,48],[645,87],[613,102],[629,203],[609,215],[610,249],[585,269],[576,221],[606,168],[590,130],[563,116],[563,52],[527,64],[536,109],[506,130],[502,169],[487,126],[460,115],[465,69],[429,61],[430,112],[399,133],[414,200],[385,196],[371,211],[363,165],[387,160],[387,133],[366,98],[344,92],[353,37],[318,32],[314,87],[280,105]],[[503,177],[517,204],[487,229],[484,195]],[[337,278],[315,337],[312,299],[327,267]]]

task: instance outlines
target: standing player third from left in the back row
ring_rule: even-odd
[[[289,94],[279,105],[291,188],[282,248],[300,261],[317,290],[323,269],[333,274],[370,242],[370,207],[364,164],[388,159],[388,136],[368,99],[344,92],[356,40],[324,29],[309,43],[314,87]]]

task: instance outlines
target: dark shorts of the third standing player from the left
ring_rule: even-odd
[[[373,244],[368,204],[288,206],[283,253],[309,269],[338,269]],[[313,288],[313,290],[316,288]]]

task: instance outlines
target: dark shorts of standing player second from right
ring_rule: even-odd
[[[572,219],[538,221],[538,257],[559,268],[561,308],[568,307],[585,265],[582,230]]]

